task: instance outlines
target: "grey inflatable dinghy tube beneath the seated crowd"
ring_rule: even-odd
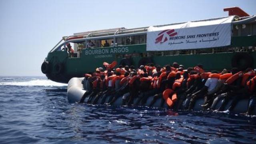
[[[86,90],[84,90],[82,80],[84,80],[84,78],[71,78],[69,80],[67,95],[68,95],[68,101],[70,103],[79,102],[81,100],[82,96],[84,95],[84,93],[86,92]],[[102,99],[102,97],[100,97],[97,100],[96,104],[106,103],[106,102],[108,102],[110,97],[112,97],[112,96],[107,96],[106,99],[104,99],[104,100]],[[137,103],[138,99],[139,98],[134,99],[134,104]],[[142,106],[149,106],[150,103],[152,102],[152,100],[153,100],[153,96],[148,96],[146,103]],[[87,101],[88,101],[88,96],[85,98],[84,102],[87,102]],[[92,99],[92,101],[94,101],[94,99]],[[226,104],[224,110],[228,109],[231,102],[232,102],[232,100],[230,100],[228,102],[228,104]],[[248,102],[249,102],[248,99],[240,100],[237,103],[237,105],[235,106],[235,108],[232,110],[232,113],[235,113],[235,114],[245,113],[248,108]],[[203,108],[201,106],[202,104],[204,104],[203,98],[196,100],[193,110],[196,110],[196,111],[203,110]],[[113,106],[122,106],[122,96],[119,96],[117,98],[117,100],[112,105]],[[218,101],[215,108],[219,108],[220,105],[221,105],[221,100]],[[138,106],[140,106],[140,105],[138,105]],[[159,98],[152,106],[161,107],[161,98]],[[164,104],[164,107],[168,108],[168,106],[166,104]],[[253,115],[256,115],[256,108],[254,108]]]

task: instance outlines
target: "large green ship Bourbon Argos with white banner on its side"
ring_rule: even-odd
[[[205,70],[256,68],[256,16],[238,7],[224,11],[229,14],[221,18],[64,36],[41,70],[52,81],[68,83],[112,61],[137,68],[173,62],[185,68],[202,64]]]

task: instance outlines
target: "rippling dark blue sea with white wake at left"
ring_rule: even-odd
[[[0,76],[0,144],[256,143],[256,117],[70,104],[67,84]]]

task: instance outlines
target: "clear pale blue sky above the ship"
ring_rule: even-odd
[[[228,16],[232,6],[256,14],[256,0],[0,0],[0,76],[43,76],[62,36]]]

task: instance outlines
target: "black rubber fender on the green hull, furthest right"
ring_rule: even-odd
[[[236,53],[231,60],[233,68],[238,68],[239,70],[246,70],[246,68],[251,68],[253,66],[253,58],[247,52]]]

